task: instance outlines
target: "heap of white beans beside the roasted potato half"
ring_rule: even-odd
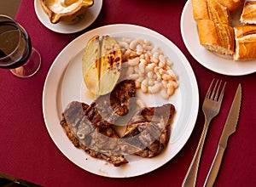
[[[119,42],[123,53],[126,78],[136,83],[145,94],[160,93],[168,99],[178,88],[177,76],[172,71],[172,61],[147,40],[123,38]]]

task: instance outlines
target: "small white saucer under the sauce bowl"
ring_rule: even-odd
[[[35,7],[36,14],[38,16],[38,20],[40,20],[41,23],[44,26],[46,26],[49,30],[59,32],[62,34],[68,34],[68,33],[82,31],[88,26],[90,26],[96,20],[96,18],[101,12],[102,1],[103,0],[96,0],[95,3],[86,10],[84,14],[84,18],[82,20],[79,20],[78,23],[75,23],[73,25],[67,25],[61,22],[52,24],[49,21],[48,15],[45,14],[44,9],[41,6],[40,0],[34,1],[34,7]]]

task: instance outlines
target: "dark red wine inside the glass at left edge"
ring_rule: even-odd
[[[31,39],[22,26],[0,23],[0,67],[13,69],[26,63],[32,51]]]

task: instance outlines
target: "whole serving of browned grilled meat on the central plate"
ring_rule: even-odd
[[[120,138],[113,126],[130,110],[135,83],[119,82],[113,92],[99,96],[91,105],[73,101],[62,113],[61,126],[74,146],[90,156],[119,167],[128,163],[124,155],[153,157],[160,154],[170,139],[172,104],[144,107],[135,112]]]

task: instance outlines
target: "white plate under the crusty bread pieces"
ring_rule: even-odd
[[[239,16],[234,19],[239,19]],[[237,20],[233,21],[237,22]],[[207,69],[228,76],[242,76],[256,72],[256,60],[235,61],[231,57],[212,53],[201,46],[190,0],[183,8],[181,32],[189,53]]]

